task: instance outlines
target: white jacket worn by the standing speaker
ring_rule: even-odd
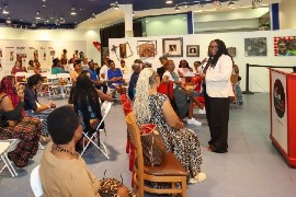
[[[232,61],[227,55],[221,55],[214,68],[208,67],[206,71],[206,93],[210,97],[234,96],[230,82]]]

